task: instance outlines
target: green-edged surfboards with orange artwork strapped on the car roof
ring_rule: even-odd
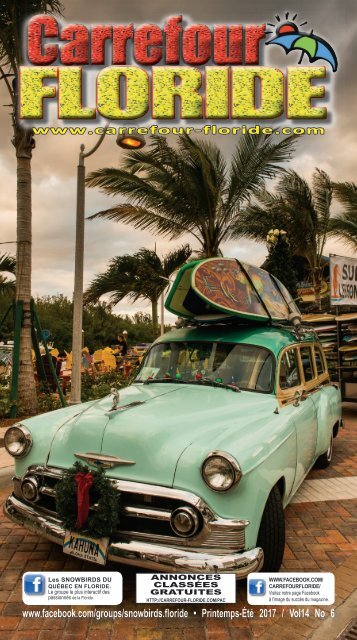
[[[183,318],[215,322],[227,316],[287,321],[299,309],[286,287],[264,269],[235,258],[208,258],[180,269],[165,303]]]

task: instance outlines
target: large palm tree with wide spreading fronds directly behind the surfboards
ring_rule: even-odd
[[[234,237],[241,205],[283,171],[295,139],[244,135],[230,167],[220,149],[209,142],[180,136],[177,148],[153,136],[146,150],[130,152],[123,168],[93,171],[90,187],[109,195],[124,195],[118,203],[91,218],[106,218],[171,240],[190,234],[202,257],[220,255],[222,242]]]

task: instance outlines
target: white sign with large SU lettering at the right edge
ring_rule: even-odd
[[[357,260],[330,256],[331,305],[357,306]]]

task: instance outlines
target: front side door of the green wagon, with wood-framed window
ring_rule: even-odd
[[[301,351],[304,349],[303,351]],[[296,432],[296,472],[294,489],[302,482],[315,456],[317,440],[317,410],[308,387],[315,378],[312,352],[309,346],[286,349],[279,363],[279,396],[284,413],[294,422]]]

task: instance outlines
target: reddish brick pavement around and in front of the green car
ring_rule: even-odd
[[[309,478],[356,475],[357,407],[347,406],[344,413],[346,427],[335,442],[334,463],[325,471],[312,471]],[[7,493],[8,490],[0,491],[1,502]],[[337,617],[339,605],[351,593],[357,596],[357,500],[294,503],[285,513],[287,544],[283,569],[333,571],[336,579]],[[246,606],[255,610],[253,619],[202,617],[203,607],[193,605],[187,607],[189,617],[186,619],[24,619],[22,611],[31,609],[23,605],[21,599],[21,577],[24,571],[88,571],[93,570],[93,566],[63,555],[56,545],[26,532],[4,516],[0,517],[0,545],[0,640],[53,640],[54,632],[63,640],[302,640],[312,638],[314,631],[321,625],[321,620],[313,617],[313,607],[309,609],[309,618],[292,620],[288,614],[284,614],[282,618],[280,607],[277,608],[275,618],[259,617],[259,607],[247,605],[244,582],[238,584],[237,604],[221,606],[220,609],[228,612]],[[125,609],[138,614],[148,609],[147,605],[135,604],[134,568],[110,564],[106,568],[119,569],[123,573]],[[162,606],[172,611],[180,609],[179,606]],[[211,610],[209,606],[205,608]],[[48,610],[52,609],[53,607],[48,607]],[[330,608],[326,608],[326,611],[330,611]],[[341,622],[341,628],[343,626]],[[331,637],[327,638],[333,640]]]

